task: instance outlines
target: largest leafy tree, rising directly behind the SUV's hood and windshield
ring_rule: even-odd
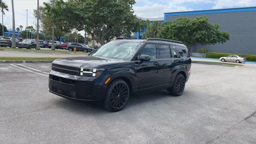
[[[100,44],[139,31],[132,10],[135,0],[58,0],[54,7],[44,4],[51,23],[61,22],[63,27],[84,30]]]

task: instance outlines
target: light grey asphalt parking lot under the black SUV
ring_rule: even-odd
[[[51,94],[50,69],[0,64],[1,144],[256,143],[256,67],[192,64],[182,96],[135,94],[120,112]]]

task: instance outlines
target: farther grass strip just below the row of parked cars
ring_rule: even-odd
[[[35,49],[26,49],[26,48],[8,48],[8,47],[0,47],[0,50],[18,50],[18,51],[29,51],[29,52],[59,52],[59,53],[74,53],[68,50],[35,50]],[[77,54],[89,54],[84,52],[76,52]]]

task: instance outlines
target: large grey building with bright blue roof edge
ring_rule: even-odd
[[[230,33],[230,40],[224,44],[204,45],[208,52],[256,54],[256,7],[168,12],[164,13],[164,22],[196,16],[206,16],[209,22],[220,24],[220,30]],[[202,48],[202,45],[198,44],[193,52],[198,48]]]

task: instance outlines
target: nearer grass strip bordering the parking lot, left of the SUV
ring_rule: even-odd
[[[29,58],[29,57],[0,57],[0,60],[16,60],[16,61],[22,61],[22,60],[37,60],[37,61],[54,61],[58,58]]]

